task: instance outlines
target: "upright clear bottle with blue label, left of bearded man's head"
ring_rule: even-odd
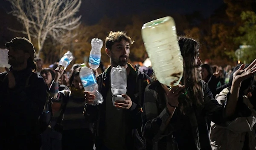
[[[93,38],[91,40],[92,50],[90,51],[89,65],[93,69],[99,68],[99,63],[101,59],[101,48],[103,46],[103,41],[100,39]]]

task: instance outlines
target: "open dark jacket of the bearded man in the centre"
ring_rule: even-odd
[[[130,74],[137,75],[137,96],[136,99],[131,99],[133,104],[128,111],[125,111],[126,121],[129,127],[131,127],[132,139],[126,140],[126,146],[128,150],[143,150],[145,148],[145,143],[143,141],[143,127],[142,127],[142,105],[144,102],[144,91],[145,87],[148,85],[150,78],[140,72],[138,67],[128,64],[128,67],[131,68]],[[106,96],[110,86],[110,71],[111,68],[108,68],[104,73],[100,74],[97,78],[99,84],[99,91],[103,96],[104,102],[97,106],[85,105],[84,116],[90,122],[96,124],[96,148],[100,149],[103,144],[103,136],[105,129],[105,109],[106,109]],[[139,88],[140,87],[140,88]]]

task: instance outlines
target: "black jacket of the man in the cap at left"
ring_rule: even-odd
[[[30,68],[12,71],[15,88],[8,87],[7,72],[0,74],[0,135],[40,135],[38,117],[47,100],[44,79]]]

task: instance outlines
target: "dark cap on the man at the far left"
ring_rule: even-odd
[[[15,37],[10,42],[5,44],[6,48],[20,48],[21,50],[28,52],[31,59],[34,61],[35,59],[35,49],[32,42],[30,42],[26,37]]]

